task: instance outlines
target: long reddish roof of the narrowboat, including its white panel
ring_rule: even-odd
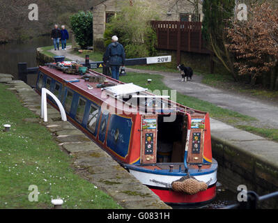
[[[189,112],[191,114],[195,115],[203,115],[206,114],[206,112],[201,112],[196,109],[192,109],[190,107],[186,107],[185,105],[180,105],[177,102],[173,102],[169,100],[169,96],[160,96],[160,95],[154,95],[153,93],[148,92],[148,89],[142,88],[141,86],[137,86],[133,83],[125,84],[123,82],[120,82],[116,79],[113,79],[111,77],[108,77],[106,75],[102,75],[99,72],[96,72],[94,70],[89,70],[89,72],[86,75],[91,76],[102,76],[105,77],[106,82],[109,84],[114,84],[114,86],[108,86],[106,88],[98,88],[98,82],[85,82],[84,79],[82,79],[82,76],[80,75],[69,75],[61,70],[58,70],[56,68],[52,68],[49,66],[40,66],[39,67],[42,72],[49,75],[50,77],[53,77],[54,79],[58,80],[59,82],[65,82],[67,86],[71,86],[72,89],[77,89],[79,93],[82,93],[82,95],[86,95],[88,97],[93,96],[95,98],[98,98],[98,100],[102,102],[106,102],[108,105],[115,105],[115,98],[117,100],[121,101],[121,98],[119,96],[126,96],[131,95],[130,98],[145,98],[145,101],[148,103],[155,100],[155,102],[160,103],[161,106],[156,109],[155,114],[163,113],[162,110],[171,110],[171,112]],[[93,89],[91,89],[93,88]],[[111,95],[112,97],[107,99],[106,95]],[[123,103],[128,103],[126,101],[123,101]],[[157,104],[158,104],[157,103]],[[162,109],[163,104],[163,109]],[[139,106],[139,107],[138,107]],[[138,105],[137,107],[125,107],[125,110],[128,109],[129,112],[137,112],[138,109],[145,109],[144,105]],[[166,107],[164,107],[166,106]]]

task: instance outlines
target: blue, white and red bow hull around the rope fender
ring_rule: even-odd
[[[135,178],[142,184],[148,186],[158,197],[165,203],[171,206],[203,206],[210,203],[216,196],[217,183],[217,162],[213,160],[213,164],[203,171],[199,172],[196,169],[190,169],[190,176],[196,180],[208,183],[208,189],[190,195],[184,192],[176,192],[171,189],[171,183],[179,180],[183,176],[187,176],[184,171],[167,170],[157,171],[145,169],[136,165],[125,165],[125,168],[130,171]]]

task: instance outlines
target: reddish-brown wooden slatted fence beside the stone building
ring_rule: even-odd
[[[201,22],[152,21],[157,33],[157,49],[177,51],[177,62],[180,63],[180,52],[211,54],[203,45]]]

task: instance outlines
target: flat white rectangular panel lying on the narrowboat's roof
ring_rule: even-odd
[[[120,84],[116,86],[109,86],[107,88],[104,88],[103,90],[111,95],[114,95],[114,97],[118,97],[121,95],[131,95],[132,93],[144,92],[147,91],[148,89],[144,89],[141,86],[130,83],[130,84]]]

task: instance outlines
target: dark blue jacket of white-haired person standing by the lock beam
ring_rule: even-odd
[[[107,64],[109,61],[109,66],[124,66],[125,65],[125,49],[121,43],[115,42],[111,43],[103,56],[103,61]]]

